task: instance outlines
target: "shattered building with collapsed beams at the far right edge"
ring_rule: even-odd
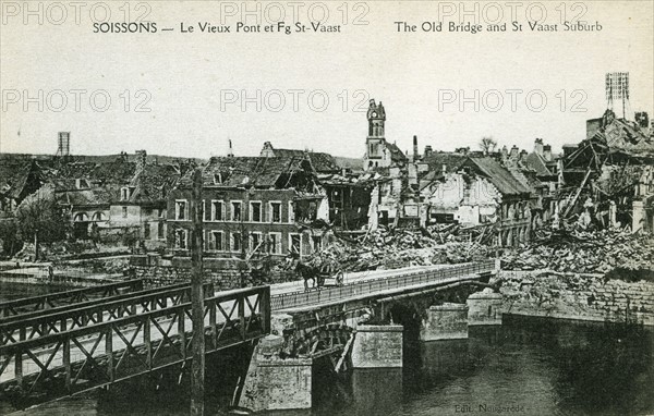
[[[586,122],[584,140],[564,150],[561,219],[653,231],[654,139],[646,123],[606,110]]]

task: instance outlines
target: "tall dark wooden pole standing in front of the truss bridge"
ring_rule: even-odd
[[[193,238],[191,240],[191,320],[193,322],[193,363],[191,366],[191,416],[204,415],[204,376],[205,376],[205,340],[204,340],[204,291],[203,291],[203,209],[202,169],[193,172]],[[183,318],[182,318],[183,319]]]

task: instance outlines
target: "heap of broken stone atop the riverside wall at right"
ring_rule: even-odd
[[[501,267],[603,274],[615,268],[654,269],[654,242],[647,236],[615,230],[550,233],[530,246],[506,250]]]

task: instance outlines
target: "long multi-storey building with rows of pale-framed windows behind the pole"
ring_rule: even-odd
[[[187,256],[191,175],[168,196],[168,246]],[[323,247],[329,207],[306,155],[211,158],[203,168],[204,252],[209,257],[308,255]]]

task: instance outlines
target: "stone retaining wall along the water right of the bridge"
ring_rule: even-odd
[[[552,270],[501,270],[502,313],[654,327],[654,282]]]

